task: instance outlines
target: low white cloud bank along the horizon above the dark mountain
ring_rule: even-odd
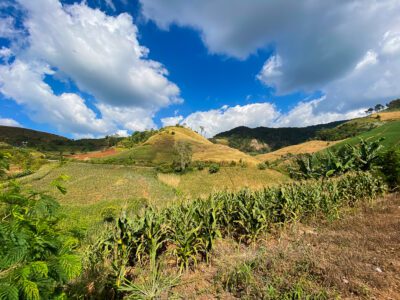
[[[207,137],[227,131],[238,126],[247,127],[303,127],[315,124],[329,123],[361,117],[364,109],[349,111],[347,113],[318,112],[318,106],[323,99],[309,102],[300,102],[287,113],[279,111],[271,103],[253,103],[233,107],[223,106],[220,109],[194,112],[187,117],[177,116],[162,119],[163,125],[180,124],[202,131]],[[172,121],[172,122],[171,122]]]

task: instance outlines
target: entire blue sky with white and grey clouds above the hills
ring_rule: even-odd
[[[306,126],[400,96],[400,0],[1,0],[0,124]]]

